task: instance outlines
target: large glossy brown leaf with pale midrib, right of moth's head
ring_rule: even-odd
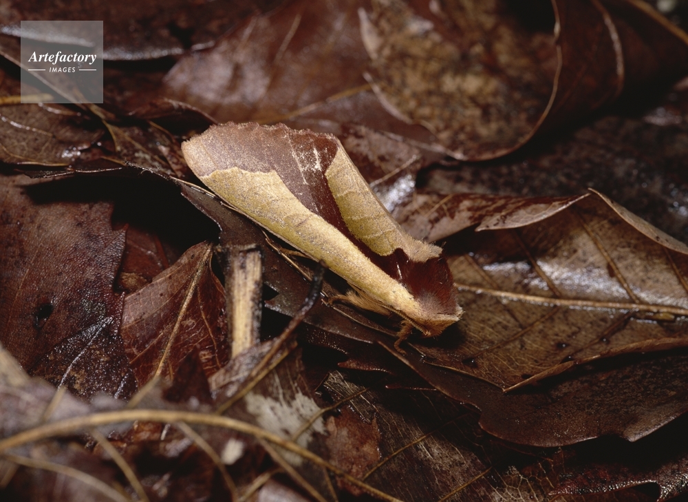
[[[466,207],[485,210],[474,197],[433,199],[429,220],[456,228],[477,222]],[[452,335],[413,344],[427,363],[508,389],[598,357],[687,344],[685,244],[596,194],[486,200],[498,212],[445,248],[466,315]]]

